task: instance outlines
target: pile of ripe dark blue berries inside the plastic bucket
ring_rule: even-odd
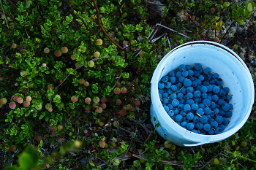
[[[158,83],[159,98],[167,114],[181,127],[196,134],[221,134],[230,123],[233,104],[230,88],[219,74],[181,64]]]

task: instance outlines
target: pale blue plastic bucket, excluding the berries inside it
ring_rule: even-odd
[[[230,101],[233,104],[233,116],[222,134],[202,135],[195,134],[178,125],[162,107],[158,94],[159,80],[181,64],[194,66],[201,63],[203,68],[211,68],[217,72],[224,84],[230,88],[233,95]],[[151,80],[151,122],[157,127],[157,132],[162,138],[170,140],[178,146],[192,147],[227,139],[238,131],[251,111],[255,100],[255,89],[252,76],[242,59],[232,50],[216,42],[195,41],[180,45],[171,50],[157,65]]]

